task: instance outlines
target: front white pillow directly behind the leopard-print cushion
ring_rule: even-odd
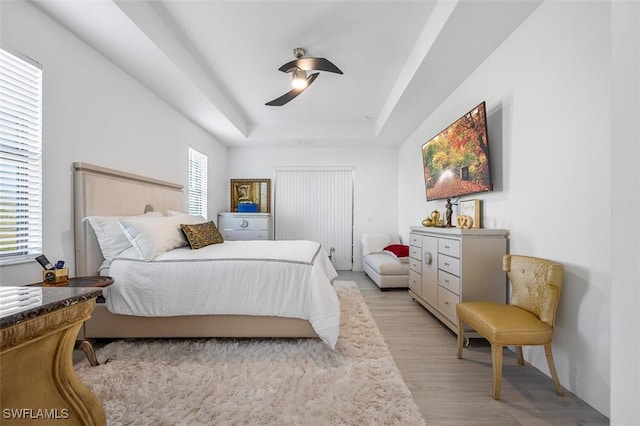
[[[206,219],[179,214],[151,219],[121,218],[119,222],[131,245],[145,260],[152,260],[159,254],[189,244],[180,229],[181,224],[193,225],[206,222]]]

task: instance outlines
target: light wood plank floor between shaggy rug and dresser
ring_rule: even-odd
[[[428,426],[608,425],[609,419],[505,351],[502,400],[491,398],[491,347],[472,339],[456,357],[456,336],[413,302],[407,290],[380,291],[363,272],[340,272],[358,284]]]

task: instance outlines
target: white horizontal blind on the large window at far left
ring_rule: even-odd
[[[0,49],[0,263],[42,252],[42,69]]]

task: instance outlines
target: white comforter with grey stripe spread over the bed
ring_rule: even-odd
[[[109,267],[109,311],[136,316],[265,315],[309,320],[332,348],[340,330],[337,277],[313,241],[226,241],[143,260],[130,248]]]

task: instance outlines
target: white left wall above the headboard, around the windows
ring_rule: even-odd
[[[73,268],[74,161],[187,185],[188,147],[209,157],[209,211],[226,204],[226,147],[27,2],[2,2],[2,43],[43,66],[43,246]],[[3,285],[42,279],[35,262]],[[71,269],[73,271],[73,269]]]

